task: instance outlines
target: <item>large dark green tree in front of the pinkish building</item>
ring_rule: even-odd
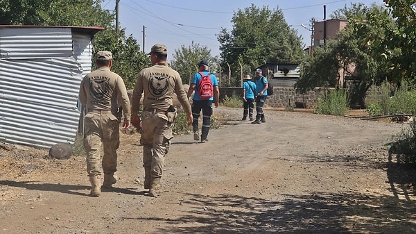
[[[337,87],[340,78],[345,76],[352,81],[350,104],[365,107],[367,90],[391,79],[383,37],[395,28],[394,21],[383,6],[373,4],[367,8],[360,5],[360,9],[361,12],[356,13],[357,8],[352,5],[351,11],[345,11],[349,16],[348,24],[338,34],[338,41],[327,44],[324,53],[319,49],[313,51],[309,66],[302,69],[302,78],[296,85],[298,90],[304,92],[322,84]],[[338,82],[332,83],[335,78]]]

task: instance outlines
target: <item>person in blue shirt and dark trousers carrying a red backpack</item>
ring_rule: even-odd
[[[193,140],[201,140],[201,143],[208,141],[209,126],[211,125],[212,103],[218,107],[220,90],[218,81],[214,74],[209,72],[209,64],[206,60],[198,62],[198,73],[193,76],[191,86],[188,90],[188,99],[193,94],[192,115],[193,115]],[[198,119],[202,110],[201,135],[199,135]]]

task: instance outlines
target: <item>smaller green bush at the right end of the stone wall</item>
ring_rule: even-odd
[[[315,113],[321,115],[345,115],[348,111],[347,92],[345,90],[330,90],[323,99],[318,99]]]

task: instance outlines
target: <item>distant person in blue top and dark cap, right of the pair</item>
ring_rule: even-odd
[[[256,83],[256,120],[252,124],[266,123],[266,117],[264,117],[263,106],[267,99],[267,78],[263,76],[261,69],[256,69],[256,76],[254,77]]]

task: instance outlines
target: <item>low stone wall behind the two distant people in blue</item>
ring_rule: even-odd
[[[293,87],[275,87],[274,94],[267,97],[266,104],[268,107],[274,108],[316,108],[316,103],[319,97],[323,97],[324,92],[331,88],[317,87],[315,90],[306,92],[306,94],[297,93]],[[220,87],[220,100],[223,100],[225,95],[232,97],[233,94],[241,97],[243,89],[241,87]]]

